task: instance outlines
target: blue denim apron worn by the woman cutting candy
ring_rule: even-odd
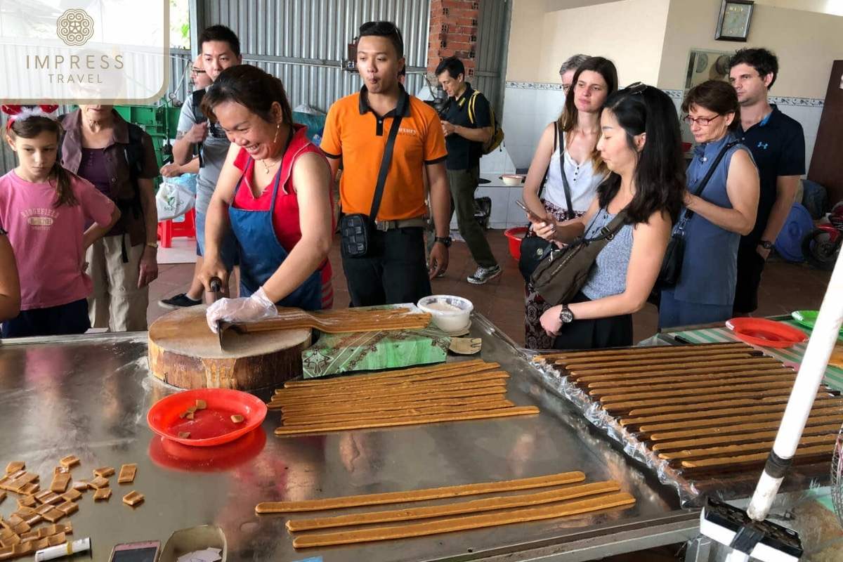
[[[249,169],[246,163],[246,170]],[[243,183],[245,172],[240,176],[234,195]],[[287,250],[278,242],[275,228],[272,226],[272,213],[275,211],[275,198],[281,183],[281,171],[275,176],[272,186],[272,200],[269,211],[249,211],[228,206],[231,228],[240,250],[240,297],[250,297],[261,285],[274,274],[287,259]],[[303,310],[322,309],[322,273],[315,270],[307,281],[281,301],[281,307],[295,307]]]

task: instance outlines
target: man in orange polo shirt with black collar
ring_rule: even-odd
[[[340,180],[342,212],[368,215],[390,127],[400,129],[384,195],[371,229],[367,254],[342,256],[352,307],[417,302],[431,294],[430,279],[448,267],[450,194],[445,172],[445,140],[436,111],[406,93],[398,81],[404,67],[404,41],[391,22],[360,26],[357,70],[364,85],[328,111],[321,148]],[[436,244],[425,264],[427,217],[422,170],[427,170],[436,225]]]

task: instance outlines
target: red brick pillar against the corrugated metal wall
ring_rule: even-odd
[[[465,79],[473,80],[480,2],[431,0],[427,72],[435,72],[443,58],[457,56],[465,65]]]

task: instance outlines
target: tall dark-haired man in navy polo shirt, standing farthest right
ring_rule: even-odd
[[[729,82],[741,105],[737,134],[755,159],[761,188],[755,227],[738,247],[735,315],[758,308],[761,272],[793,206],[799,176],[805,173],[802,126],[767,101],[778,72],[776,55],[766,49],[741,49],[729,62]]]

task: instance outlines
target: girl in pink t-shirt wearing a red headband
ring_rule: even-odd
[[[90,328],[85,250],[120,218],[108,197],[56,160],[62,126],[48,115],[55,109],[3,105],[11,115],[6,140],[19,166],[0,177],[0,224],[20,278],[20,313],[3,323],[3,338]]]

